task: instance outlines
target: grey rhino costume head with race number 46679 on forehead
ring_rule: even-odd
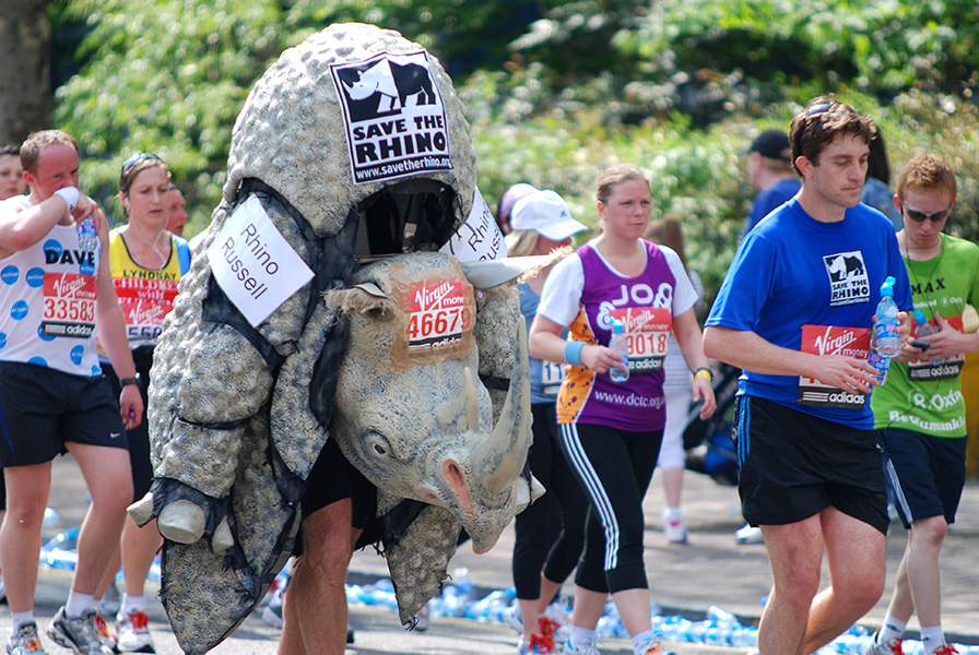
[[[404,255],[362,269],[353,282],[328,296],[351,322],[333,438],[379,489],[449,510],[473,550],[485,552],[514,516],[529,446],[524,330],[512,334],[518,366],[494,427],[477,378],[472,288],[458,262]]]

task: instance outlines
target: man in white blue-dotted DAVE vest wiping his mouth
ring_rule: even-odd
[[[51,461],[69,452],[92,504],[68,603],[48,634],[80,655],[108,655],[94,593],[132,500],[123,428],[139,425],[143,402],[109,272],[108,225],[79,191],[78,144],[59,130],[36,132],[21,146],[21,160],[31,193],[0,202],[0,465],[8,492],[0,560],[13,620],[7,652],[44,653],[34,621],[37,553]],[[95,250],[79,243],[75,224],[86,217],[98,235]],[[96,325],[121,378],[118,400],[98,365]]]

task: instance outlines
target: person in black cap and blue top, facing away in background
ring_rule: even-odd
[[[747,182],[758,190],[744,224],[746,235],[762,218],[792,200],[801,183],[792,168],[789,135],[781,130],[762,132],[745,154]]]

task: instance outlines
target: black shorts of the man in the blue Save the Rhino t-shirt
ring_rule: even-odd
[[[797,523],[831,505],[887,534],[882,451],[874,430],[738,398],[739,492],[752,525]]]

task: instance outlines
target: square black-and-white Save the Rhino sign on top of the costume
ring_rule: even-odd
[[[451,170],[445,104],[424,50],[330,66],[354,184]]]

